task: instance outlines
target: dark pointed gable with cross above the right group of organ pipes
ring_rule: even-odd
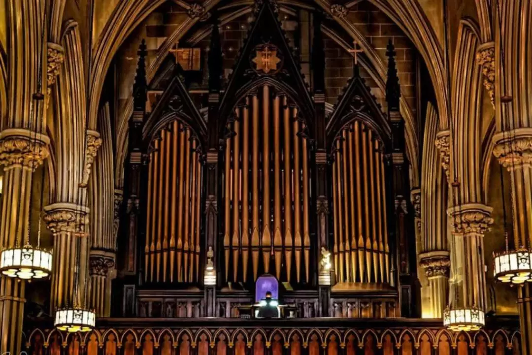
[[[327,123],[328,146],[332,144],[343,126],[353,119],[370,126],[387,144],[391,129],[386,115],[364,79],[360,77],[358,65],[355,64],[353,72],[353,78],[347,83]]]

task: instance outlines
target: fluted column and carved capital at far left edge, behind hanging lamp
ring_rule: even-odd
[[[20,247],[28,233],[32,172],[48,156],[49,138],[24,129],[0,133],[4,165],[0,247]],[[18,354],[24,312],[25,282],[0,277],[0,353]]]

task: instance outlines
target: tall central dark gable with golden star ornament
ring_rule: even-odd
[[[292,97],[305,117],[313,117],[310,91],[281,28],[277,5],[271,0],[257,3],[255,20],[240,49],[221,100],[220,116],[228,117],[237,101],[251,88],[268,83]]]

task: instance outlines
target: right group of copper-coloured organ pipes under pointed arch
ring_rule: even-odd
[[[332,200],[338,282],[388,283],[389,247],[381,142],[364,123],[334,143]]]

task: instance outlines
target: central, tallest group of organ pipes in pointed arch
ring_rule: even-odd
[[[269,86],[248,95],[229,123],[223,169],[225,281],[262,273],[309,282],[310,173],[297,108]],[[281,267],[282,265],[282,267]]]

